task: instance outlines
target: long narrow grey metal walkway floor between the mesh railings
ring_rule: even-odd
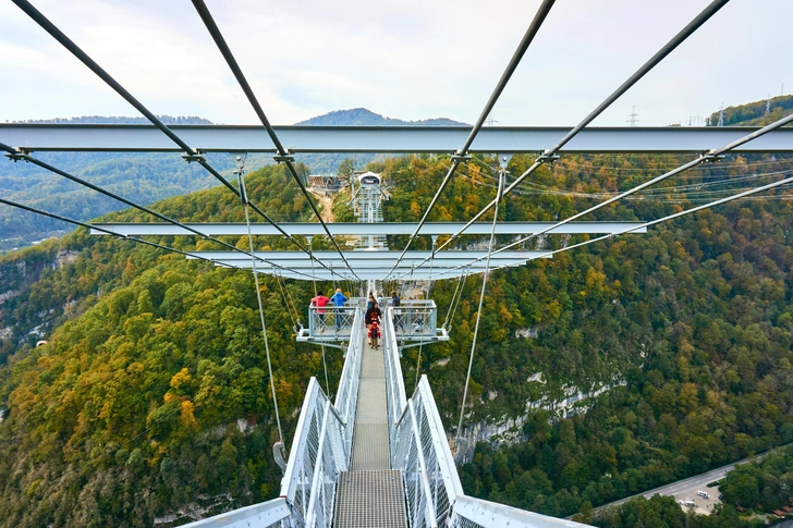
[[[335,528],[407,528],[402,471],[391,470],[382,344],[361,365],[350,471],[339,478]]]

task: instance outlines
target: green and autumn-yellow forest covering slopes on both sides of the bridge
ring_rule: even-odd
[[[499,219],[566,218],[687,159],[564,156],[518,186]],[[514,157],[510,177],[532,161]],[[489,157],[472,159],[430,220],[467,219],[486,205],[496,193],[493,164]],[[371,163],[389,186],[386,220],[420,218],[449,165],[448,156]],[[731,155],[593,219],[655,219],[791,172],[789,157]],[[251,195],[264,210],[281,220],[309,218],[281,167],[248,177]],[[780,188],[646,234],[495,272],[464,429],[522,421],[511,440],[479,442],[460,466],[466,493],[550,515],[588,515],[613,500],[793,441],[788,193]],[[349,214],[337,206],[339,214]],[[222,188],[169,198],[155,209],[181,220],[244,219]],[[120,211],[102,220],[144,216]],[[582,240],[544,237],[526,248],[561,248]],[[211,247],[208,241],[159,242]],[[404,243],[390,241],[393,247]],[[274,237],[257,241],[258,247],[285,244]],[[315,240],[315,248],[322,244]],[[414,248],[422,247],[429,241],[414,242]],[[63,251],[74,258],[59,261]],[[292,339],[282,285],[266,280],[263,293],[289,446],[308,378],[322,367],[319,351]],[[298,306],[307,305],[310,283],[285,286]],[[455,286],[432,284],[439,320]],[[460,413],[481,278],[471,277],[462,286],[451,340],[424,347],[418,364],[450,432]],[[7,293],[0,303],[0,330],[10,332],[0,346],[0,526],[148,526],[155,518],[170,519],[185,504],[208,515],[276,495],[280,472],[270,449],[277,431],[248,274],[89,237],[80,229],[0,257],[0,294]],[[46,345],[35,347],[36,329]],[[526,329],[532,332],[522,335],[536,336],[517,336]],[[416,354],[416,348],[404,353],[408,392]],[[329,355],[328,368],[337,379],[341,357]],[[586,392],[607,384],[613,388],[566,417],[552,405],[528,406],[559,401],[570,386]],[[754,501],[753,481],[757,496],[767,501],[762,504],[782,501],[786,464],[754,472],[741,466],[728,477],[725,502]],[[739,477],[735,491],[727,491]],[[690,518],[664,498],[633,500],[606,512],[593,523],[748,526],[734,508]],[[171,526],[188,520],[176,517]],[[637,518],[652,521],[639,525]]]

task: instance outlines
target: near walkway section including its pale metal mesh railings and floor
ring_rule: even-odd
[[[351,307],[349,346],[333,402],[308,383],[280,496],[193,528],[584,527],[463,492],[426,376],[405,395],[395,308],[383,310],[379,348]]]

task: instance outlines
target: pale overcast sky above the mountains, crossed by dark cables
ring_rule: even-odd
[[[207,0],[270,121],[365,107],[472,123],[539,0]],[[33,0],[151,111],[257,124],[188,0]],[[493,111],[573,125],[704,0],[558,0]],[[793,1],[732,0],[595,124],[705,116],[793,93]],[[0,0],[0,121],[137,115],[10,0]]]

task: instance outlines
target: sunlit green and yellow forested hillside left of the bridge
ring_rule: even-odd
[[[265,168],[248,189],[263,208],[300,220],[306,208],[290,177]],[[240,221],[237,204],[215,188],[156,207],[183,220]],[[106,218],[133,219],[142,220],[129,211]],[[76,258],[52,270],[59,248]],[[278,435],[249,273],[81,229],[2,258],[3,283],[9,269],[33,269],[36,259],[46,263],[26,295],[0,303],[14,330],[0,357],[0,526],[183,524],[190,518],[174,516],[180,509],[208,515],[277,493]],[[288,287],[307,303],[309,283]],[[289,445],[320,352],[294,343],[274,281],[263,281],[263,294]],[[24,329],[40,317],[61,324],[32,348],[36,337]],[[341,357],[328,360],[337,379]]]

